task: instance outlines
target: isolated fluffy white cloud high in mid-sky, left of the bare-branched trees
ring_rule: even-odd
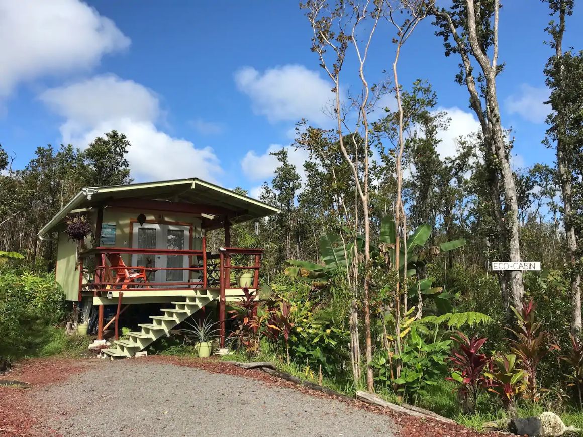
[[[332,86],[302,65],[283,65],[264,73],[244,67],[235,73],[235,83],[251,98],[255,113],[270,122],[301,118],[320,125],[330,122],[325,111],[333,98]]]

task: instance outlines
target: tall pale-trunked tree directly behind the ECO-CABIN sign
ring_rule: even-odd
[[[510,261],[518,262],[521,260],[518,195],[510,166],[510,145],[505,141],[496,94],[496,76],[503,68],[498,65],[499,0],[454,0],[449,9],[438,8],[433,0],[430,7],[436,17],[435,23],[440,27],[436,34],[444,38],[445,55],[458,54],[461,57],[461,72],[456,81],[468,89],[470,107],[482,127],[486,145],[484,161],[500,243]],[[477,79],[475,71],[480,72]],[[510,272],[510,283],[512,290],[508,296],[505,281],[501,281],[505,304],[510,301],[515,308],[522,308],[522,272]]]

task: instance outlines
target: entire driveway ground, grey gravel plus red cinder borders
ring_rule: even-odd
[[[0,386],[0,435],[479,436],[337,400],[217,360],[27,360]]]

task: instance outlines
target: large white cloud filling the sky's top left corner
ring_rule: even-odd
[[[129,38],[79,0],[0,0],[0,97],[20,82],[89,70]]]

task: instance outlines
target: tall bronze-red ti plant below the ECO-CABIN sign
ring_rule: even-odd
[[[515,336],[510,341],[510,350],[519,360],[520,367],[526,372],[526,395],[532,400],[539,399],[536,387],[536,367],[545,356],[549,347],[546,344],[546,332],[540,330],[540,323],[535,320],[536,303],[522,303],[521,311],[510,307],[517,318],[518,329],[508,329]]]

